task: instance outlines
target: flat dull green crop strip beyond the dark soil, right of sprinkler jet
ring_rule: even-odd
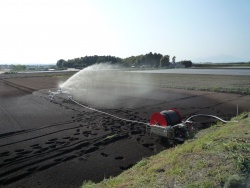
[[[96,81],[117,84],[250,94],[250,76],[204,74],[148,74],[135,72],[103,72]]]

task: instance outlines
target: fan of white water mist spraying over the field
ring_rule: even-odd
[[[61,88],[76,100],[96,107],[135,107],[136,99],[152,91],[145,87],[150,80],[143,75],[124,72],[108,63],[95,64],[73,75]]]

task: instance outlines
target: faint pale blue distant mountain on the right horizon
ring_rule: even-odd
[[[211,63],[232,63],[232,62],[249,62],[250,59],[247,58],[239,58],[230,55],[215,55],[206,58],[197,58],[194,59],[193,62],[211,62]]]

